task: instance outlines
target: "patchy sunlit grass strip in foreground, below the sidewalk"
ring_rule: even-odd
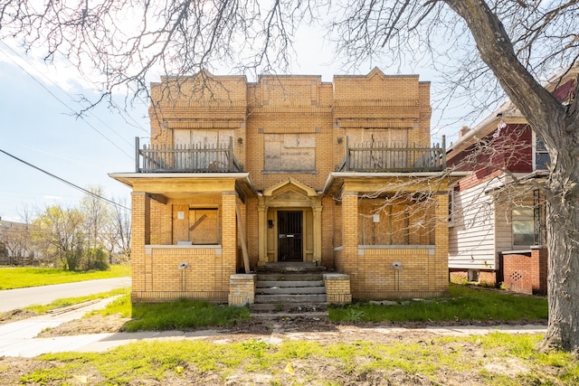
[[[52,366],[28,372],[18,381],[77,384],[74,376],[84,375],[93,385],[223,384],[233,376],[245,384],[261,375],[267,376],[262,378],[267,384],[334,385],[390,381],[397,374],[392,380],[396,384],[414,383],[417,377],[432,384],[446,384],[449,379],[479,385],[577,384],[579,365],[572,354],[527,351],[540,339],[535,334],[489,334],[441,337],[428,344],[418,339],[389,344],[267,344],[255,339],[233,344],[139,342],[106,353],[45,354],[34,361]],[[501,365],[506,370],[501,371]]]

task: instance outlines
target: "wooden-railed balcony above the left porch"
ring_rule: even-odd
[[[214,146],[139,145],[135,138],[137,173],[234,173],[242,165],[233,153],[233,138],[229,144]]]

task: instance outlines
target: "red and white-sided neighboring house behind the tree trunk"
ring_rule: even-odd
[[[563,103],[572,98],[574,66],[547,84]],[[447,165],[472,174],[450,193],[451,281],[502,284],[546,293],[546,214],[541,186],[549,155],[517,108],[505,103],[447,149]]]

